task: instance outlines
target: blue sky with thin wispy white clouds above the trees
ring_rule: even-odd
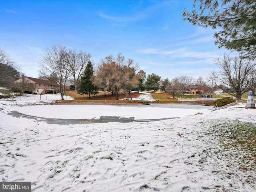
[[[90,53],[95,68],[102,58],[121,53],[146,75],[205,77],[218,68],[214,60],[230,52],[214,45],[216,31],[183,21],[192,3],[1,0],[0,47],[34,78],[44,50],[55,44]]]

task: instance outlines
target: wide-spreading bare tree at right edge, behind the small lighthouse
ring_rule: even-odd
[[[241,55],[234,58],[224,55],[223,60],[217,58],[215,64],[219,70],[211,73],[214,84],[223,84],[230,95],[241,100],[242,94],[248,91],[249,76],[255,72],[256,62]]]

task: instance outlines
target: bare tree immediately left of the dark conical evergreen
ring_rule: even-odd
[[[86,53],[80,50],[80,52],[76,52],[75,50],[69,50],[67,54],[67,63],[68,70],[70,71],[70,81],[74,84],[75,90],[77,87],[77,82],[82,75],[86,63],[90,60],[90,53]]]

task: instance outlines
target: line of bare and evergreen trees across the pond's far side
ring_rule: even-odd
[[[1,49],[0,49],[1,50]],[[21,77],[17,65],[1,50],[0,85],[8,86]],[[256,62],[253,59],[240,56],[234,58],[224,55],[223,59],[216,58],[215,64],[219,69],[212,71],[205,79],[201,76],[194,79],[192,76],[180,75],[172,80],[161,79],[157,74],[148,74],[140,70],[134,60],[125,60],[120,53],[116,58],[106,56],[94,68],[91,55],[83,51],[67,50],[63,45],[54,45],[46,49],[39,65],[40,79],[58,82],[59,92],[64,99],[65,88],[71,82],[79,94],[91,95],[99,91],[108,91],[116,96],[133,91],[160,90],[170,93],[173,98],[192,86],[197,93],[211,92],[210,87],[215,86],[229,92],[232,96],[241,99],[243,93],[256,90]]]

